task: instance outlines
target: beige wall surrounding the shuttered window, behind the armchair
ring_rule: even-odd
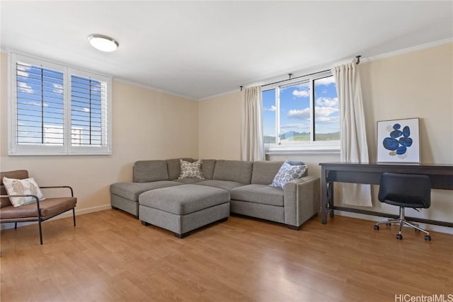
[[[8,156],[7,55],[1,54],[0,168],[40,185],[71,185],[79,214],[110,207],[109,186],[132,180],[140,159],[198,156],[198,102],[113,81],[111,156]]]

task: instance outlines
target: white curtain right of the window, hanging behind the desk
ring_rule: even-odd
[[[369,163],[362,88],[357,66],[355,63],[335,66],[332,74],[340,103],[340,159],[345,163]],[[370,185],[343,183],[341,196],[345,204],[372,207]]]

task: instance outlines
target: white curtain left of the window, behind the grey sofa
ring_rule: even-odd
[[[261,86],[245,88],[241,127],[241,160],[264,161]]]

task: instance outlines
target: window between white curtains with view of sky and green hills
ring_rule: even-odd
[[[340,108],[330,71],[263,87],[266,151],[336,150]]]

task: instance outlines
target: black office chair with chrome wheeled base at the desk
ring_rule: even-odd
[[[411,226],[415,231],[426,233],[425,240],[430,241],[431,236],[428,231],[419,228],[418,225],[406,221],[404,218],[404,208],[424,208],[428,209],[431,205],[431,181],[427,175],[383,173],[379,185],[379,202],[393,204],[399,207],[399,218],[389,221],[376,222],[375,230],[379,230],[379,224],[386,225],[398,224],[399,232],[396,239],[402,240],[401,228],[403,225]]]

